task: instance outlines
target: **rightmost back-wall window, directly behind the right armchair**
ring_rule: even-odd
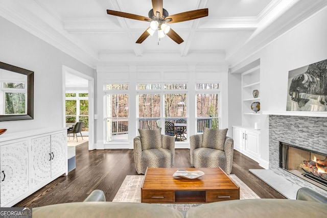
[[[204,127],[219,129],[219,84],[196,84],[197,132]]]

